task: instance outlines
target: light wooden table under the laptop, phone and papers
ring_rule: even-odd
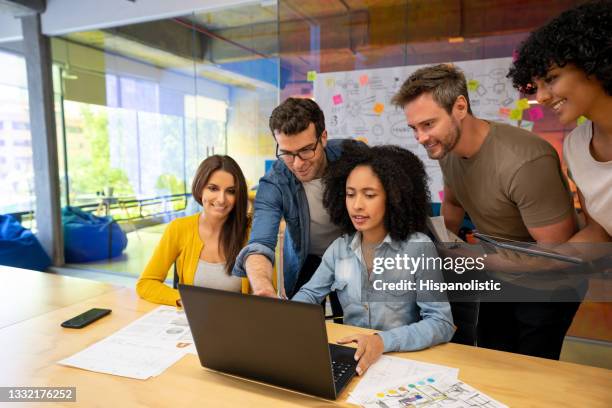
[[[37,302],[23,290],[24,297]],[[3,299],[2,307],[8,306]],[[91,307],[110,308],[113,313],[83,330],[60,327],[62,321]],[[56,364],[155,307],[139,299],[133,290],[119,289],[0,329],[0,386],[75,386],[76,404],[56,404],[67,407],[322,407],[335,404],[204,369],[194,355],[183,357],[162,375],[146,381]],[[328,324],[330,341],[356,331],[369,332]],[[458,344],[396,355],[458,367],[461,380],[509,406],[612,406],[612,370]],[[358,381],[354,379],[349,389]],[[339,402],[346,397],[344,392]],[[27,406],[23,403],[20,406],[24,405]]]

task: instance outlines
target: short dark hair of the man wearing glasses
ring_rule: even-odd
[[[317,137],[321,136],[325,130],[325,115],[319,105],[311,99],[287,98],[274,108],[269,125],[272,136],[274,132],[295,135],[306,130],[311,122]]]

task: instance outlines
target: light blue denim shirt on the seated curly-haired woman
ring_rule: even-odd
[[[433,242],[422,233],[412,234],[405,241],[394,241],[387,235],[376,247],[374,257],[395,259],[398,254],[402,257],[405,254],[409,257],[437,257]],[[393,290],[377,293],[377,298],[373,298],[363,290],[373,291],[372,282],[376,279],[385,282],[402,279],[441,281],[442,274],[436,269],[419,269],[411,274],[405,269],[391,268],[383,274],[371,273],[368,277],[361,253],[361,233],[343,235],[325,251],[312,279],[292,300],[317,304],[335,290],[344,310],[344,322],[381,330],[379,335],[385,352],[420,350],[451,339],[455,326],[444,294],[418,289]]]

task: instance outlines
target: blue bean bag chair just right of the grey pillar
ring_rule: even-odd
[[[127,235],[113,217],[97,217],[77,207],[64,207],[62,224],[66,263],[113,258],[127,246]]]

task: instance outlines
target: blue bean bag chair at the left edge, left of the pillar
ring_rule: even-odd
[[[0,265],[45,271],[51,259],[32,234],[12,215],[0,215]]]

